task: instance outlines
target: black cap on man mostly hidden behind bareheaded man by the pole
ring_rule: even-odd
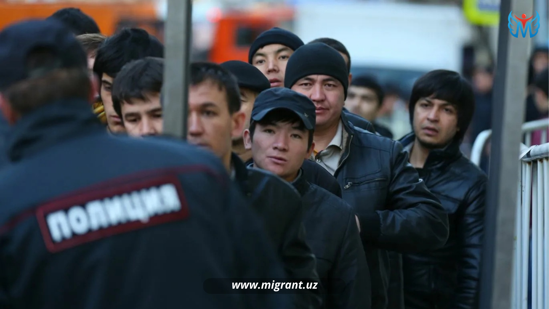
[[[238,80],[238,86],[261,92],[271,88],[269,80],[253,65],[240,60],[229,60],[220,64]]]

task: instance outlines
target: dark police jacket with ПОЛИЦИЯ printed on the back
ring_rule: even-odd
[[[0,308],[288,308],[216,281],[284,272],[212,154],[111,136],[76,100],[25,115],[8,137]]]

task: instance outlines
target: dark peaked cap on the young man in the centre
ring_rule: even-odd
[[[255,99],[254,108],[251,110],[251,119],[260,121],[269,112],[281,108],[298,115],[307,130],[315,129],[315,103],[301,93],[283,87],[270,88],[261,92]]]

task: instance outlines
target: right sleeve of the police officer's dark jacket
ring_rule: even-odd
[[[285,278],[281,261],[273,250],[264,225],[259,216],[251,211],[250,206],[240,194],[236,185],[229,191],[227,219],[235,246],[235,262],[238,263],[239,278],[259,278],[273,280]],[[255,282],[250,280],[250,282]],[[261,283],[260,283],[261,284]],[[231,288],[231,287],[227,287]],[[247,294],[243,297],[246,308],[283,309],[292,306],[290,294]]]

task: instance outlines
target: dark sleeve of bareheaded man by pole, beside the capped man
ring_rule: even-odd
[[[297,193],[296,193],[297,195]],[[309,279],[309,281],[320,284],[318,273],[316,272],[316,260],[311,248],[307,245],[305,227],[303,225],[303,207],[301,198],[288,198],[287,203],[296,203],[299,205],[292,207],[296,209],[288,227],[285,229],[284,242],[282,244],[282,258],[290,279]],[[321,293],[296,294],[297,304],[295,308],[320,308],[322,305]]]

